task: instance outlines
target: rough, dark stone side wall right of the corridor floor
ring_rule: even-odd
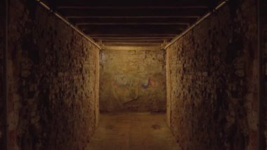
[[[167,112],[182,149],[257,149],[255,3],[228,1],[167,49]]]

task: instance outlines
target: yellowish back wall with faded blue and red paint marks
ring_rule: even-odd
[[[164,51],[100,54],[100,111],[166,111]]]

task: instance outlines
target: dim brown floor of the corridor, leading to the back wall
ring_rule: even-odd
[[[179,146],[165,113],[105,113],[86,149],[179,150]]]

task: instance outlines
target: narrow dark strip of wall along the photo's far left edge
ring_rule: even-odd
[[[4,149],[5,99],[4,99],[4,49],[5,49],[5,4],[0,1],[0,149]]]

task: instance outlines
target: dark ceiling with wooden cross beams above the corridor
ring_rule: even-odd
[[[105,46],[162,46],[220,0],[46,0]]]

